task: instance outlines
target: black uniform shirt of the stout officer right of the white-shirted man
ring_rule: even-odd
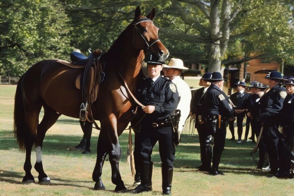
[[[234,116],[227,95],[214,84],[207,89],[204,97],[204,115]]]

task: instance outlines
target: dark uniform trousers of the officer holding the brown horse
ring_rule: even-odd
[[[158,141],[159,155],[162,167],[171,169],[175,160],[176,148],[173,143],[173,130],[171,127],[153,128],[141,127],[140,134],[135,139],[135,151],[140,157],[140,161],[151,164],[151,154],[154,145]]]

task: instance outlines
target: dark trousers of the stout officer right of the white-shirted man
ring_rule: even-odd
[[[207,138],[211,137],[211,140],[206,139],[205,145],[211,145],[213,141],[213,157],[212,157],[212,170],[218,170],[220,163],[220,157],[225,148],[225,136],[227,133],[227,122],[222,122],[220,124],[220,129],[218,128],[217,120],[205,121],[205,127],[207,130]]]

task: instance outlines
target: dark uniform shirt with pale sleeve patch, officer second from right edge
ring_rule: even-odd
[[[277,122],[279,120],[278,114],[283,108],[286,96],[286,90],[280,85],[271,88],[265,93],[260,99],[260,119]]]

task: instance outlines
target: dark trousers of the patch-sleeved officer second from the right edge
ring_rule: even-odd
[[[265,122],[263,125],[263,139],[266,152],[270,161],[271,172],[276,172],[280,167],[285,170],[284,157],[286,153],[286,140],[278,131],[278,123]],[[280,157],[280,160],[279,160]]]

